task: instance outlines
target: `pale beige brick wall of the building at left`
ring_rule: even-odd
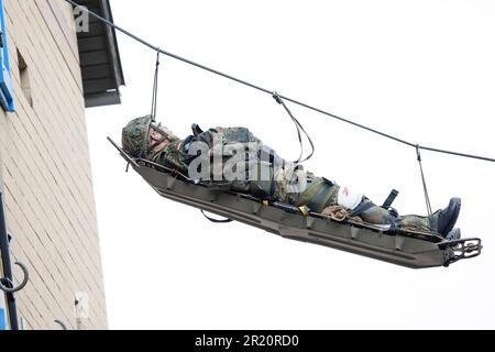
[[[75,294],[86,293],[89,318],[79,328],[105,329],[72,8],[62,0],[4,0],[4,8],[16,111],[0,109],[1,178],[13,261],[31,274],[16,294],[18,314],[26,329],[58,329],[54,319],[76,329]]]

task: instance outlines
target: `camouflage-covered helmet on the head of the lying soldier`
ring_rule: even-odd
[[[122,129],[122,148],[134,157],[142,157],[146,153],[150,135],[151,116],[138,118]]]

